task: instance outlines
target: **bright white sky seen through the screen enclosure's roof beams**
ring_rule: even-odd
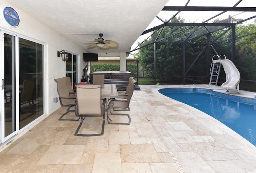
[[[184,6],[187,3],[188,0],[169,0],[169,2],[166,4],[166,6]],[[238,0],[190,0],[188,3],[188,6],[234,6]],[[237,7],[256,7],[256,0],[243,0],[238,4]],[[169,20],[170,17],[172,17],[174,14],[176,14],[177,11],[161,11],[157,16],[160,17],[162,20]],[[217,14],[220,12],[188,12],[188,11],[183,11],[180,12],[178,16],[182,17],[185,19],[186,22],[198,22],[201,23]],[[232,16],[234,18],[242,18],[245,19],[248,16],[256,16],[255,12],[226,12],[218,18],[228,18],[228,16]],[[214,19],[213,19],[214,20]],[[252,23],[255,20],[249,20],[248,23]],[[208,23],[211,23],[212,20],[210,20]],[[162,21],[159,19],[155,18],[146,29],[153,28],[154,26],[158,26],[160,24],[163,24]],[[145,29],[145,30],[146,30]],[[138,42],[144,41],[144,39],[148,38],[150,36],[150,33],[145,34],[143,36],[140,36],[135,43],[132,45],[131,50],[133,50],[135,47],[137,47]]]

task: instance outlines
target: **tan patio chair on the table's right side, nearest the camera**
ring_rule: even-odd
[[[136,81],[134,79],[132,79],[131,83],[133,86],[134,83],[136,83]],[[133,94],[133,87],[130,87],[130,90],[128,91],[127,98],[125,98],[125,99],[112,98],[112,99],[108,100],[107,110],[109,109],[109,112],[111,115],[126,115],[126,116],[128,116],[128,123],[112,122],[112,119],[110,119],[110,116],[107,111],[108,124],[128,124],[129,125],[131,123],[131,117],[129,114],[121,114],[121,113],[116,114],[116,113],[111,112],[111,108],[113,108],[114,111],[116,111],[117,109],[130,110],[129,105],[130,105],[130,99],[132,98],[132,94]]]

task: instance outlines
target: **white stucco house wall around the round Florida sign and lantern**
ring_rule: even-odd
[[[7,4],[3,0],[0,0],[0,4]],[[82,65],[82,55],[84,49],[79,45],[76,45],[66,39],[65,35],[59,36],[59,50],[58,50],[58,33],[44,24],[40,23],[40,19],[34,19],[32,16],[26,14],[22,10],[15,7],[15,4],[8,4],[13,7],[18,14],[20,15],[20,26],[18,28],[10,29],[6,27],[2,21],[0,21],[0,29],[4,31],[8,31],[17,35],[22,35],[26,37],[30,37],[34,40],[38,40],[42,43],[46,44],[46,52],[45,52],[45,69],[46,76],[45,82],[46,87],[46,114],[51,114],[56,109],[60,107],[60,103],[53,103],[52,98],[58,97],[58,93],[56,90],[56,82],[54,79],[65,77],[66,72],[66,63],[64,63],[61,57],[57,57],[57,51],[66,50],[70,51],[74,54],[80,55],[80,65]],[[80,67],[81,69],[82,67]]]

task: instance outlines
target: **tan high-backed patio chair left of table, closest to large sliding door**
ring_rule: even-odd
[[[70,110],[71,107],[76,106],[76,96],[74,94],[70,94],[67,88],[67,80],[66,77],[62,77],[59,79],[54,79],[57,83],[57,91],[59,95],[60,105],[61,106],[69,106],[68,109],[62,116],[60,116],[59,120],[70,120],[70,121],[78,121],[79,119],[64,119],[63,117],[69,112],[75,112],[75,110]],[[70,83],[69,83],[70,85]]]

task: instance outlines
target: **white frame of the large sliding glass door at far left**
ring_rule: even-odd
[[[4,29],[0,29],[0,33],[2,35],[2,40],[0,41],[0,79],[1,79],[1,84],[0,84],[0,145],[4,144],[6,141],[8,141],[10,138],[13,138],[14,136],[20,134],[21,132],[23,132],[24,130],[26,130],[28,127],[32,126],[35,122],[37,122],[38,120],[40,120],[41,118],[43,118],[46,115],[46,43],[40,42],[38,40],[35,39],[31,39],[29,37],[23,36],[23,35],[18,35],[16,33],[10,32],[10,31],[6,31]],[[5,130],[5,114],[4,114],[4,34],[8,34],[8,35],[12,35],[15,37],[15,73],[14,73],[14,78],[15,78],[15,127],[16,130],[14,132],[12,132],[11,134],[9,134],[8,136],[5,137],[4,134],[4,130]],[[44,104],[44,113],[42,115],[40,115],[38,118],[36,118],[35,120],[33,120],[32,122],[30,122],[29,124],[27,124],[26,126],[24,126],[23,128],[20,129],[19,127],[19,38],[22,39],[26,39],[28,41],[33,41],[35,43],[39,43],[41,45],[44,45],[44,50],[42,51],[43,53],[43,80],[44,80],[44,85],[43,85],[43,104]],[[18,111],[17,111],[18,110]]]

